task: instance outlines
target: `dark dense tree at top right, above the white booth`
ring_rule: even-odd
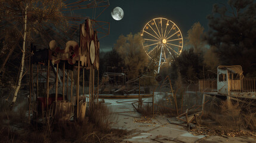
[[[256,70],[256,2],[229,0],[227,5],[213,5],[208,15],[206,41],[224,65],[241,65],[244,74]]]

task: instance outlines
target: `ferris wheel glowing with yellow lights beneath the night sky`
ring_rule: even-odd
[[[181,54],[183,37],[178,26],[166,18],[154,18],[147,22],[141,32],[143,48],[153,62],[160,66],[170,63]]]

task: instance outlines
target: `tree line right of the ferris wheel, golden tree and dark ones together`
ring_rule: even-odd
[[[169,70],[172,79],[185,83],[217,77],[219,65],[241,65],[245,76],[256,75],[256,3],[230,0],[213,5],[209,30],[195,23],[187,32],[190,49],[176,57]]]

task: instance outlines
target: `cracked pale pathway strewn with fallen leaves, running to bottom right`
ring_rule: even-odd
[[[256,142],[247,136],[198,135],[189,132],[187,125],[166,116],[142,117],[132,107],[135,100],[104,100],[118,114],[112,128],[132,130],[122,142]],[[171,122],[171,123],[170,123]]]

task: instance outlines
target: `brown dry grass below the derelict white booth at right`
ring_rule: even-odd
[[[212,101],[202,116],[202,125],[222,134],[241,130],[256,132],[256,105],[252,100]]]

